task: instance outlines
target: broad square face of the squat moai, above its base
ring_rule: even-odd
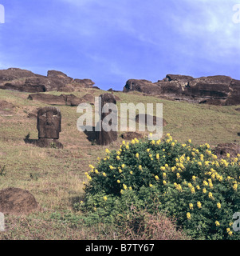
[[[37,112],[38,138],[59,138],[61,132],[61,111],[46,106]]]

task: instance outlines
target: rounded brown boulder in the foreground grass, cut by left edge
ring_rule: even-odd
[[[36,210],[40,210],[40,206],[28,190],[19,188],[0,190],[0,212],[3,214],[30,214]]]

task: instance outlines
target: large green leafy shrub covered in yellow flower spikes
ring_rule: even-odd
[[[116,221],[131,206],[149,213],[166,211],[192,238],[238,239],[233,214],[240,211],[240,155],[218,159],[208,144],[173,141],[123,142],[86,172],[90,210]]]

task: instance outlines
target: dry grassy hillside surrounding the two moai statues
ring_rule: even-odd
[[[74,94],[81,97],[102,93],[101,90],[85,89]],[[168,122],[163,134],[170,133],[179,142],[191,138],[193,143],[208,142],[210,146],[221,142],[240,143],[240,112],[234,110],[239,106],[194,105],[140,93],[115,94],[120,102],[163,103],[163,118]],[[0,101],[6,100],[15,106],[12,116],[0,115],[0,166],[6,166],[6,175],[0,175],[0,190],[10,186],[29,190],[42,211],[22,217],[6,216],[7,230],[0,233],[0,239],[116,238],[113,231],[107,232],[101,226],[91,227],[92,232],[79,226],[81,213],[73,210],[73,203],[79,202],[84,195],[85,171],[89,170],[89,164],[97,162],[97,157],[104,157],[107,147],[96,146],[89,142],[86,134],[77,130],[80,114],[77,114],[77,107],[71,106],[57,106],[62,114],[60,142],[64,145],[63,150],[26,144],[27,134],[37,139],[37,120],[27,118],[27,114],[46,106],[28,100],[28,95],[0,90]],[[119,107],[120,102],[117,102]],[[120,143],[119,138],[108,149],[119,148]]]

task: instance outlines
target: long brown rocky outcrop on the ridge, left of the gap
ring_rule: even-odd
[[[0,89],[2,90],[18,90],[29,93],[52,90],[73,92],[79,88],[91,88],[93,85],[94,82],[90,79],[74,80],[57,70],[49,70],[47,76],[18,68],[0,70]]]

